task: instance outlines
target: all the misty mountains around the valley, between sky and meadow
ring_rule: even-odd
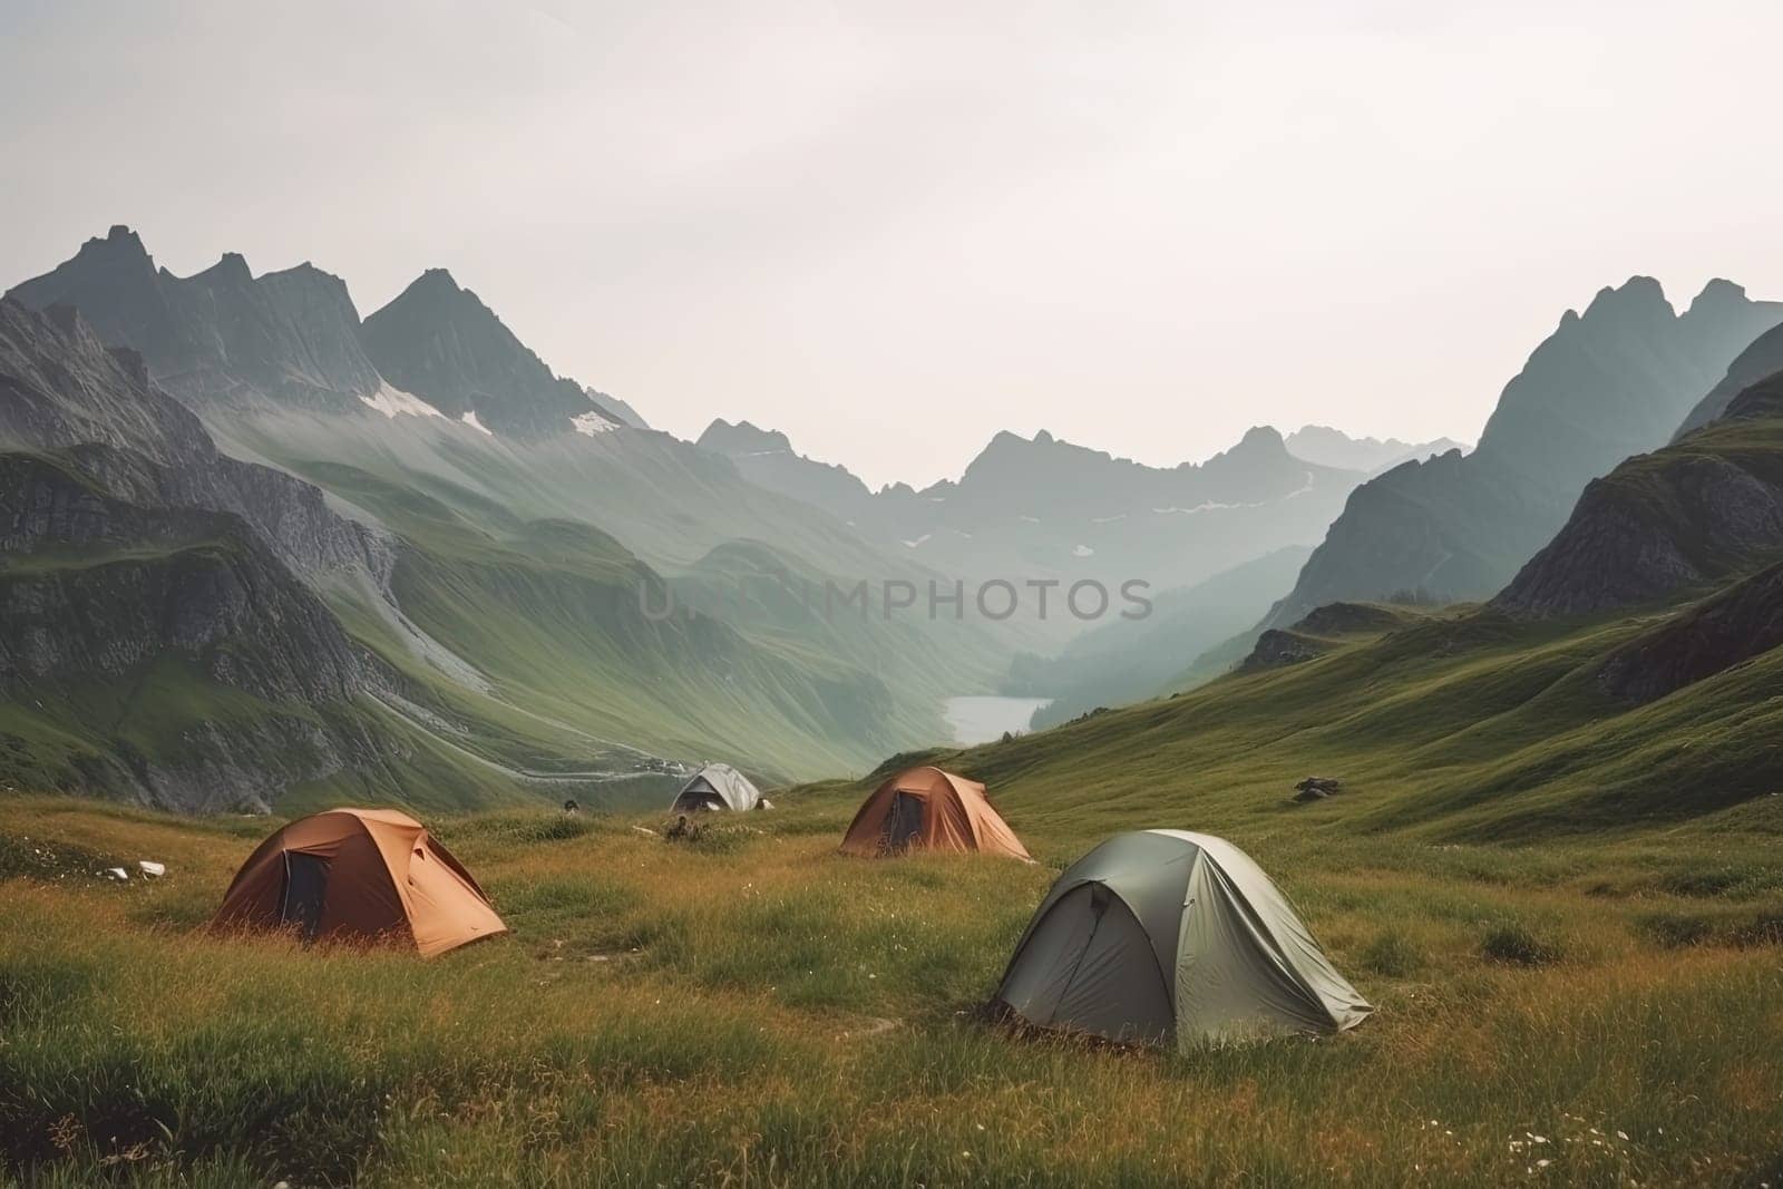
[[[1471,451],[1255,426],[1150,467],[1004,431],[872,490],[747,419],[651,430],[446,269],[362,319],[310,264],[180,278],[118,226],[0,303],[0,734],[37,783],[178,808],[624,800],[711,758],[865,770],[945,742],[954,695],[1052,697],[1047,726],[1170,693],[1334,603],[1669,597],[1776,537],[1749,426],[1779,323],[1633,278]],[[975,608],[986,583],[1020,613]]]

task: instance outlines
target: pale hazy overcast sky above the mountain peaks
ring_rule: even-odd
[[[0,282],[111,223],[362,312],[446,266],[654,424],[874,483],[1000,428],[1473,440],[1605,283],[1783,296],[1778,45],[1776,0],[0,0]]]

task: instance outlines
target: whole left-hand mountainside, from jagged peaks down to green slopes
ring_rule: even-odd
[[[601,412],[597,394],[556,378],[444,273],[360,323],[346,287],[314,267],[255,276],[228,255],[175,278],[114,228],[12,289],[5,310],[14,349],[0,369],[0,446],[25,467],[12,508],[66,503],[84,485],[107,522],[143,537],[105,545],[70,528],[78,517],[59,521],[61,537],[20,529],[5,572],[53,556],[107,576],[119,551],[130,563],[164,551],[150,542],[173,542],[187,565],[198,544],[187,510],[201,510],[234,517],[210,537],[244,558],[251,588],[283,592],[325,633],[280,642],[219,604],[196,636],[144,635],[128,626],[127,586],[62,583],[59,601],[30,586],[43,606],[12,620],[29,638],[9,642],[20,665],[9,734],[46,783],[175,808],[264,808],[367,784],[435,804],[565,786],[599,802],[654,795],[678,765],[711,754],[763,779],[863,765],[941,734],[945,697],[1000,667],[966,626],[927,633],[863,617],[840,638],[809,626],[801,636],[760,601],[731,599],[724,615],[676,606],[678,592],[726,576],[719,558],[745,544],[763,567],[838,585],[924,570],[624,408]],[[37,465],[46,456],[50,472]],[[153,528],[157,517],[182,528]],[[674,581],[608,528],[669,560]],[[105,624],[121,638],[91,635]],[[330,685],[326,713],[314,690],[276,683],[257,686],[262,702],[301,709],[210,709],[239,693],[214,656],[264,645],[283,656],[266,672],[294,674],[342,642],[358,683]],[[27,654],[62,660],[27,665]],[[80,668],[68,658],[94,654],[128,658],[128,672],[89,672],[93,688],[177,670],[191,697],[160,690],[159,713],[130,702],[105,715],[45,697]],[[223,774],[225,756],[266,759],[239,727],[296,720],[321,734],[282,750],[310,761],[257,763],[264,777],[251,783]]]

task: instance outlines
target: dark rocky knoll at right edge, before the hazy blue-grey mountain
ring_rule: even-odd
[[[1492,599],[1582,615],[1724,581],[1783,549],[1783,374],[1721,421],[1594,480],[1565,526]]]

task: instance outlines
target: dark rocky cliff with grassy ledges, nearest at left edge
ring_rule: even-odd
[[[0,699],[11,775],[173,809],[266,809],[403,754],[396,677],[305,585],[392,549],[198,419],[73,310],[0,299]]]

